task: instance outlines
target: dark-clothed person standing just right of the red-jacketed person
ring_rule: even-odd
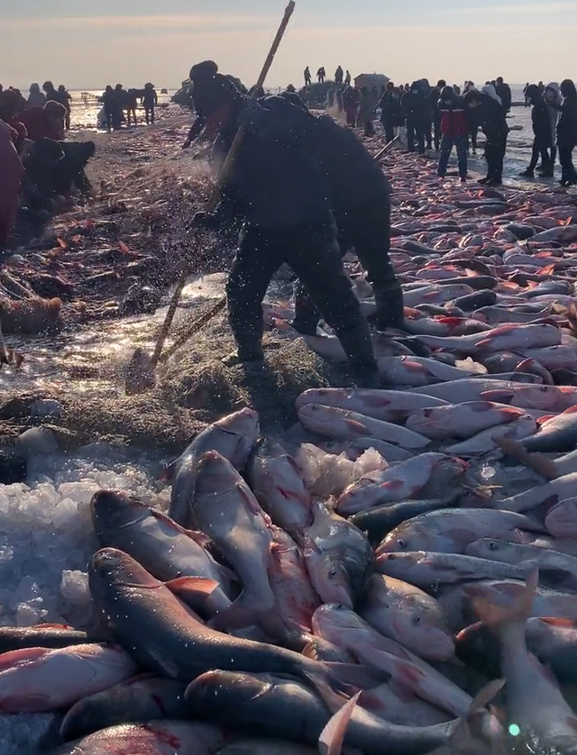
[[[472,110],[472,117],[477,118],[487,141],[485,142],[485,159],[487,176],[481,178],[480,184],[500,186],[503,183],[503,161],[507,150],[508,125],[505,110],[500,103],[495,87],[483,86],[482,94],[468,92],[464,103]]]

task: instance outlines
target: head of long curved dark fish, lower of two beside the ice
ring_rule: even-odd
[[[162,583],[123,550],[97,550],[88,565],[90,593],[97,602],[126,587],[157,589]]]

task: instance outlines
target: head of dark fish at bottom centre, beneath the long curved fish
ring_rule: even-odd
[[[233,708],[243,711],[270,687],[270,680],[252,674],[207,671],[188,685],[185,699],[197,714],[212,716],[215,711],[226,714]],[[247,714],[250,714],[250,707]]]

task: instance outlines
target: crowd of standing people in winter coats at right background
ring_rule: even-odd
[[[321,70],[321,69],[319,69]],[[324,68],[322,69],[324,71]],[[480,129],[485,134],[487,176],[480,183],[499,186],[507,150],[507,116],[512,105],[511,88],[498,77],[478,88],[472,81],[462,86],[448,86],[439,80],[430,86],[426,78],[411,85],[397,86],[389,81],[377,86],[352,85],[349,72],[343,78],[339,66],[334,74],[334,88],[329,91],[330,105],[337,103],[346,123],[359,127],[365,136],[375,133],[375,119],[380,123],[387,141],[398,140],[408,151],[426,155],[427,150],[439,153],[438,175],[444,177],[453,151],[457,151],[459,175],[467,179],[467,156],[477,152]],[[309,69],[305,70],[305,89],[312,86]],[[577,172],[572,150],[577,146],[577,91],[571,79],[561,85],[527,84],[526,105],[532,107],[535,141],[529,166],[522,177],[535,177],[539,159],[540,177],[553,177],[557,156],[562,168],[562,186],[577,185]]]

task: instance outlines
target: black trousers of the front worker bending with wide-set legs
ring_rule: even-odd
[[[361,305],[343,270],[339,245],[331,228],[303,228],[290,235],[262,232],[247,227],[226,284],[228,314],[234,340],[242,359],[254,358],[261,350],[262,300],[270,280],[286,262],[302,281],[319,311],[339,336],[366,328],[366,341],[359,343],[362,355],[354,366],[372,367],[372,347]],[[350,339],[348,339],[350,341]],[[344,346],[344,343],[343,343]],[[355,364],[356,362],[356,364]]]

